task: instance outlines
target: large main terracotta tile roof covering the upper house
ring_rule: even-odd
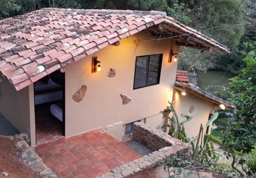
[[[0,72],[16,90],[122,38],[165,24],[165,30],[221,52],[229,50],[166,13],[43,8],[0,20]]]

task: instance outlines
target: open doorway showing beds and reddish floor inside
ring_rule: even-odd
[[[65,136],[65,73],[34,83],[36,145]]]

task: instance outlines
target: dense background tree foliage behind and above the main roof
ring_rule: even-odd
[[[43,7],[83,9],[132,9],[165,11],[181,23],[226,44],[231,54],[182,48],[179,64],[187,70],[222,69],[237,73],[243,68],[241,44],[255,38],[254,0],[2,0],[0,19]],[[249,39],[248,39],[249,38]]]

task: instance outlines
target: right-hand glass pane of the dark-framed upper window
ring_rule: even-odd
[[[147,84],[154,84],[154,83],[159,82],[158,81],[159,60],[160,60],[159,54],[150,56],[150,63],[148,66]]]

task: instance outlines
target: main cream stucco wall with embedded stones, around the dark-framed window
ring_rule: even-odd
[[[146,31],[120,40],[119,47],[108,46],[67,66],[66,137],[102,128],[120,140],[124,124],[155,116],[172,101],[177,62],[168,63],[168,57],[170,49],[178,53],[179,47],[169,39],[141,43],[145,40],[150,40]],[[160,84],[133,90],[136,56],[159,53],[163,53]],[[93,56],[101,61],[101,72],[91,72]],[[110,68],[116,70],[113,78],[107,76]],[[88,87],[86,96],[74,102],[72,96],[83,84]],[[132,101],[123,105],[120,94]],[[162,119],[155,117],[150,123],[157,126]]]

